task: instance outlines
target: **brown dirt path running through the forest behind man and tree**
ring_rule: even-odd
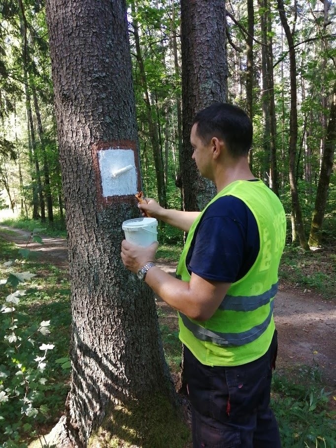
[[[15,232],[15,233],[14,233]],[[0,225],[0,237],[23,248],[30,233]],[[67,241],[62,238],[43,237],[44,245],[30,243],[38,259],[53,263],[63,269],[68,267]],[[158,260],[162,269],[174,274],[176,264]],[[158,306],[168,314],[174,325],[174,311],[158,300]],[[304,293],[300,288],[280,285],[274,304],[274,318],[278,330],[278,367],[291,369],[305,364],[319,366],[326,384],[336,387],[336,307],[335,302],[324,300],[321,295]]]

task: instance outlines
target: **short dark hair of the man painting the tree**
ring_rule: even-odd
[[[246,156],[252,145],[253,128],[248,115],[229,103],[214,103],[198,112],[193,120],[204,145],[212,137],[223,139],[232,157]]]

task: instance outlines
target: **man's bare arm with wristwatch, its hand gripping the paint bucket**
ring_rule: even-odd
[[[136,273],[148,261],[155,259],[157,247],[158,244],[153,243],[148,248],[142,248],[124,240],[121,252],[124,265]],[[200,321],[209,319],[215,313],[231,285],[204,280],[194,273],[190,282],[183,282],[157,266],[149,269],[145,282],[172,308]]]

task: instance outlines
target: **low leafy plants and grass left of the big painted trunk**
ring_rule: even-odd
[[[33,230],[33,234],[38,230]],[[40,267],[23,259],[13,259],[18,251],[12,250],[11,245],[1,239],[0,249],[0,274],[7,277],[0,280],[3,296],[0,310],[0,446],[24,448],[27,444],[23,441],[41,434],[40,425],[55,418],[64,406],[67,392],[64,379],[69,359],[65,352],[68,331],[65,332],[63,327],[66,325],[68,329],[70,316],[67,307],[66,321],[62,318],[65,306],[64,303],[58,306],[58,295],[66,294],[68,302],[69,290],[40,289],[48,284],[48,279],[38,278],[37,273],[27,270],[32,268],[38,272]],[[3,263],[5,255],[12,259]],[[54,274],[60,275],[61,271],[54,269]],[[49,280],[53,283],[52,275]],[[46,320],[48,315],[53,319]],[[57,337],[56,327],[61,330]],[[52,344],[47,343],[46,338],[52,334],[55,340]],[[62,362],[57,359],[60,355]]]

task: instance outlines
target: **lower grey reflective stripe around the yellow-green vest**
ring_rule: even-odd
[[[187,316],[182,313],[179,313],[183,324],[189,331],[193,333],[193,335],[200,339],[201,341],[212,342],[214,344],[225,346],[225,347],[239,347],[249,342],[253,342],[259,338],[260,335],[264,333],[264,331],[269,326],[269,322],[272,318],[273,313],[273,300],[269,304],[269,315],[264,320],[264,322],[259,325],[254,326],[248,331],[243,331],[241,333],[221,333],[219,331],[209,330],[208,328],[204,328],[197,323],[192,322]]]

